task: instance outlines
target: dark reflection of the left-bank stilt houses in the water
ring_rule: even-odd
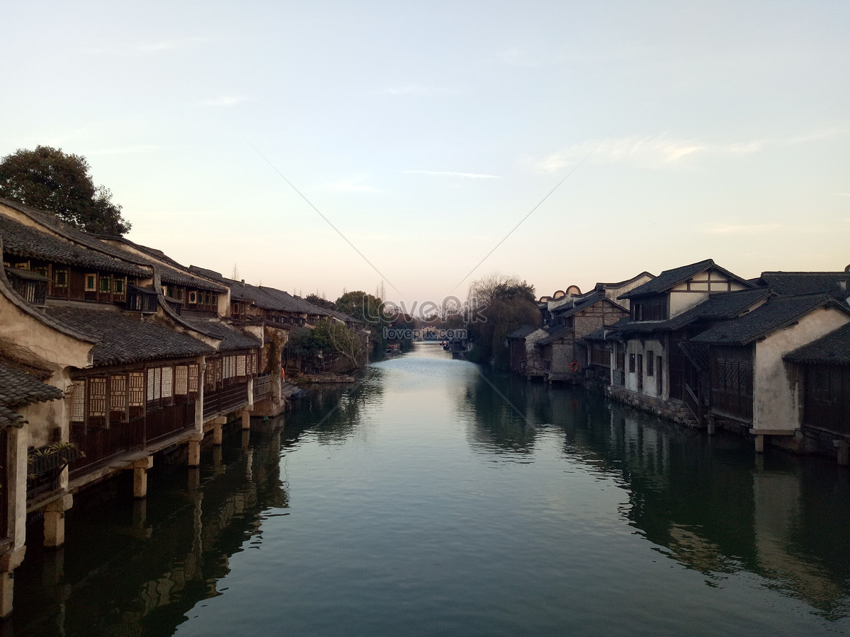
[[[263,511],[288,507],[286,436],[275,420],[234,431],[201,469],[163,468],[156,498],[105,506],[127,492],[117,481],[81,498],[68,525],[73,550],[36,547],[16,572],[14,634],[173,634],[199,601],[220,595],[230,555],[259,533]]]

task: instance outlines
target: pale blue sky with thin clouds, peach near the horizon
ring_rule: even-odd
[[[84,155],[130,240],[296,294],[538,296],[850,263],[850,3],[3,8],[0,155]]]

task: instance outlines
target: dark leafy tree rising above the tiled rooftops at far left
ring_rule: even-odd
[[[0,162],[0,196],[52,212],[75,228],[120,236],[130,229],[105,186],[95,186],[88,161],[62,149],[18,149]]]

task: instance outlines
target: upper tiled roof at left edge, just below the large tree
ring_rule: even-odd
[[[18,223],[3,214],[0,214],[0,235],[3,236],[3,251],[21,258],[94,268],[134,277],[150,276],[150,272],[139,268],[138,265],[75,245],[71,241]]]

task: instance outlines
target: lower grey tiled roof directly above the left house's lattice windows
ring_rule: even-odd
[[[47,307],[49,317],[73,330],[98,338],[92,349],[95,365],[189,358],[215,353],[206,343],[165,325],[139,320],[139,314],[88,307]]]

